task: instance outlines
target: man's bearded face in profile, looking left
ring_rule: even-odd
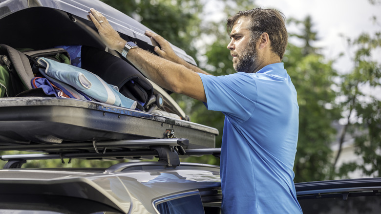
[[[256,41],[248,29],[249,22],[249,18],[246,17],[238,19],[230,33],[228,49],[233,56],[233,67],[237,72],[252,73],[259,63]]]

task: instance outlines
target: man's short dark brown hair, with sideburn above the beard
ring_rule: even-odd
[[[283,13],[275,9],[262,8],[239,11],[237,14],[228,18],[228,34],[232,31],[235,22],[241,17],[248,17],[250,19],[249,30],[254,41],[256,41],[262,33],[266,32],[269,34],[271,49],[280,57],[280,60],[282,60],[288,40],[285,24],[286,18]]]

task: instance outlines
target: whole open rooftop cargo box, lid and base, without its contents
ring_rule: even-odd
[[[87,20],[90,8],[103,13],[122,38],[153,52],[151,40],[144,35],[150,29],[98,0],[1,1],[0,26],[6,30],[0,33],[0,43],[35,50],[85,45],[121,58],[119,53],[106,48],[95,26]],[[172,47],[177,55],[195,64],[183,50]],[[147,153],[148,148],[169,162],[170,157],[165,156],[173,150],[197,154],[198,149],[207,149],[206,152],[210,149],[214,153],[218,130],[188,121],[169,91],[154,83],[152,86],[153,95],[144,110],[57,97],[0,98],[0,151],[39,151],[61,157],[68,154],[123,157],[152,155]],[[163,146],[170,151],[162,152]],[[6,159],[5,155],[1,158]]]

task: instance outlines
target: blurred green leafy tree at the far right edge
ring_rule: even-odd
[[[354,68],[341,77],[340,95],[345,99],[340,105],[346,113],[342,136],[348,132],[355,137],[355,153],[361,156],[362,161],[345,163],[337,170],[339,152],[330,176],[334,178],[340,173],[360,170],[364,175],[380,177],[381,102],[369,91],[380,90],[381,87],[381,64],[372,58],[374,51],[381,49],[381,33],[362,33],[355,40],[347,38],[347,42],[350,49],[354,49]],[[368,88],[368,93],[365,93],[364,87]],[[339,142],[340,148],[344,140],[342,138]]]

